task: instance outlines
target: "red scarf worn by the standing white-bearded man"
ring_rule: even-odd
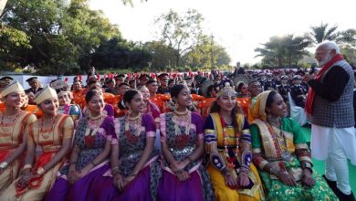
[[[328,61],[322,68],[319,70],[318,74],[315,76],[315,80],[320,80],[322,75],[330,69],[330,67],[336,63],[337,61],[342,60],[342,56],[340,54],[336,55],[335,57],[331,58],[330,61]],[[305,111],[309,114],[313,113],[313,104],[314,104],[314,98],[315,98],[315,91],[310,87],[308,91],[308,96],[307,96],[307,102],[305,105]]]

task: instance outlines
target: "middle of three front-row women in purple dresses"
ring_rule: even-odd
[[[115,119],[119,140],[112,141],[111,170],[97,191],[97,200],[155,200],[161,177],[159,152],[154,147],[155,124],[151,114],[144,113],[142,94],[128,90],[123,102],[126,116]]]

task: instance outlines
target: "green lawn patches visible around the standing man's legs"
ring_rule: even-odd
[[[311,136],[310,129],[305,128],[305,127],[302,127],[301,129],[304,133],[304,136],[306,137],[308,145],[310,146],[310,136]],[[356,193],[356,166],[353,166],[352,164],[350,164],[350,161],[348,161],[348,163],[349,163],[349,175],[350,175],[351,190],[355,194]],[[314,164],[314,169],[316,171],[318,171],[319,175],[323,175],[324,171],[325,171],[324,162],[313,159],[313,164]]]

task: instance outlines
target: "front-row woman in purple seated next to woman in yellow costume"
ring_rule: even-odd
[[[161,143],[164,160],[158,200],[214,200],[213,186],[202,165],[204,154],[203,119],[189,111],[190,90],[175,85],[171,90],[173,112],[163,113]]]

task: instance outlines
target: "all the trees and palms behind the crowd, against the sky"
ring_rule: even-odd
[[[145,42],[123,38],[119,26],[89,9],[89,0],[7,0],[0,20],[1,69],[29,65],[47,75],[83,73],[90,66],[165,71],[210,69],[231,61],[225,48],[204,33],[204,16],[194,9],[155,17],[158,39]],[[339,30],[327,23],[311,26],[304,36],[270,37],[255,51],[262,66],[291,66],[326,39],[336,41],[345,57],[354,60],[356,29]]]

